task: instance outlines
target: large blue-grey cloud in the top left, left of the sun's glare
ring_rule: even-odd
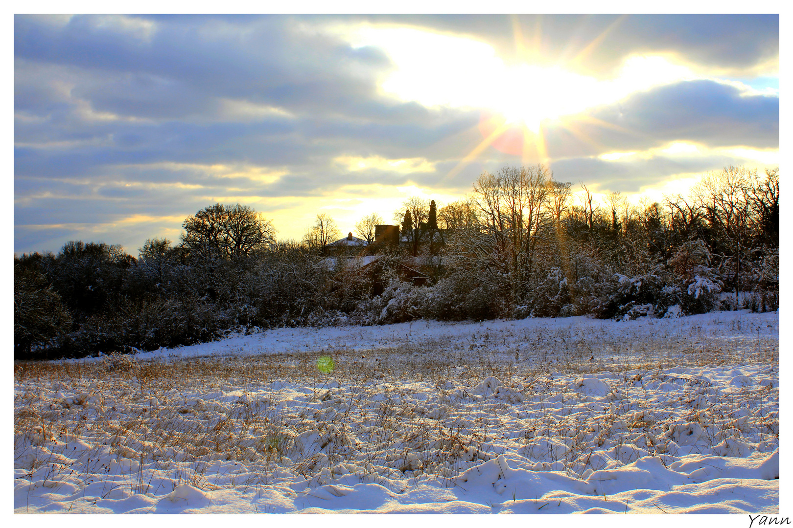
[[[211,116],[223,108],[218,98],[295,112],[354,112],[376,92],[377,71],[388,67],[381,54],[352,50],[293,17],[202,25],[181,17],[113,20],[151,25],[146,42],[109,30],[105,17],[75,16],[53,27],[17,16],[15,56],[104,77],[79,86],[79,97],[100,112],[157,120]]]

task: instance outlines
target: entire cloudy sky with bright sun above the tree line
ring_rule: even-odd
[[[15,253],[178,242],[213,203],[299,239],[543,163],[661,200],[779,165],[777,15],[15,15]]]

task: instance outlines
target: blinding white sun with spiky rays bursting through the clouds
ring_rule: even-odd
[[[552,63],[543,56],[542,28],[534,28],[531,49],[513,18],[516,59],[511,62],[479,40],[449,33],[393,25],[357,25],[340,28],[352,47],[377,47],[388,55],[391,67],[377,86],[383,97],[415,101],[441,112],[447,108],[479,112],[481,142],[443,180],[454,177],[489,146],[519,156],[524,163],[550,160],[545,136],[550,129],[592,144],[581,125],[619,129],[604,123],[590,110],[650,89],[696,75],[672,55],[631,55],[611,78],[580,73],[580,65],[625,17],[619,17],[577,55]]]

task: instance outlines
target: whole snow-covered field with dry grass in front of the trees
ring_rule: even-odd
[[[779,511],[779,316],[278,329],[14,367],[14,511]]]

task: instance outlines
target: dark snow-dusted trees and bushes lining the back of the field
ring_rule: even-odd
[[[543,165],[483,173],[436,209],[412,197],[394,213],[406,247],[372,263],[326,258],[339,237],[317,215],[301,241],[278,241],[250,207],[216,203],[182,223],[178,243],[70,241],[14,256],[14,356],[81,357],[215,340],[278,326],[376,325],[427,317],[676,317],[779,306],[779,169],[709,173],[687,196],[599,201]],[[427,282],[406,279],[420,268]]]

